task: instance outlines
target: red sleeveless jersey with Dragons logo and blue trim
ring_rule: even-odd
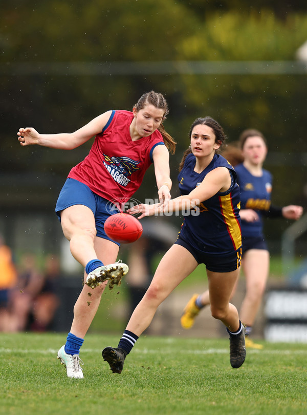
[[[153,162],[153,149],[164,145],[158,130],[132,141],[129,132],[132,120],[130,111],[112,111],[104,129],[96,135],[90,153],[71,169],[68,177],[89,186],[106,200],[127,202]]]

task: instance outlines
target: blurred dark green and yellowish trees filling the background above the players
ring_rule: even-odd
[[[36,176],[64,179],[83,159],[91,142],[73,151],[21,148],[16,132],[33,126],[42,132],[74,131],[108,109],[131,109],[145,91],[163,92],[170,114],[166,129],[179,145],[171,157],[176,179],[189,125],[200,115],[215,117],[229,140],[247,127],[258,128],[269,140],[272,157],[284,155],[284,166],[271,159],[276,203],[302,203],[303,164],[288,153],[305,152],[306,73],[250,74],[241,61],[290,61],[307,38],[305,3],[234,0],[89,0],[73,3],[50,0],[34,3],[2,1],[0,14],[0,113],[3,174],[27,171]],[[161,61],[161,73],[116,74],[112,62],[122,65]],[[206,73],[191,62],[238,62],[236,73]],[[82,66],[86,63],[87,66]],[[101,64],[109,65],[109,72]],[[99,67],[101,65],[101,71]],[[266,69],[266,68],[264,68]],[[292,155],[291,155],[292,157]],[[268,163],[270,157],[268,157]],[[292,163],[292,164],[291,164]],[[148,175],[148,182],[153,175]],[[8,180],[2,186],[17,189]],[[47,189],[52,180],[46,179]],[[31,184],[29,184],[30,186]],[[287,188],[287,192],[284,192]],[[46,189],[44,191],[47,191]],[[146,182],[142,187],[146,193]],[[140,199],[142,194],[140,194]],[[151,195],[146,195],[150,197]],[[14,199],[12,199],[13,201]],[[32,198],[29,203],[31,203]]]

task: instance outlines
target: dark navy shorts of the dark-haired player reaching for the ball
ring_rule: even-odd
[[[178,238],[175,244],[186,248],[199,264],[205,264],[206,269],[212,272],[231,272],[241,265],[242,247],[231,255],[209,254],[193,249],[182,238]]]

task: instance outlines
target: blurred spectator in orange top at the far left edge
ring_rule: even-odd
[[[17,270],[11,249],[0,235],[0,331],[10,331],[10,290],[17,282]]]

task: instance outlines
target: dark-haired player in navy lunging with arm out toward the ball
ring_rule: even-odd
[[[121,373],[124,359],[149,326],[158,306],[199,264],[206,265],[211,313],[221,320],[230,338],[230,364],[245,361],[245,337],[238,311],[230,304],[241,258],[240,195],[234,168],[217,154],[225,142],[222,127],[211,117],[191,126],[191,145],[178,175],[181,196],[167,205],[138,205],[128,211],[139,218],[189,210],[178,240],[163,256],[143,299],[131,315],[118,347],[106,347],[102,356],[113,372]]]

